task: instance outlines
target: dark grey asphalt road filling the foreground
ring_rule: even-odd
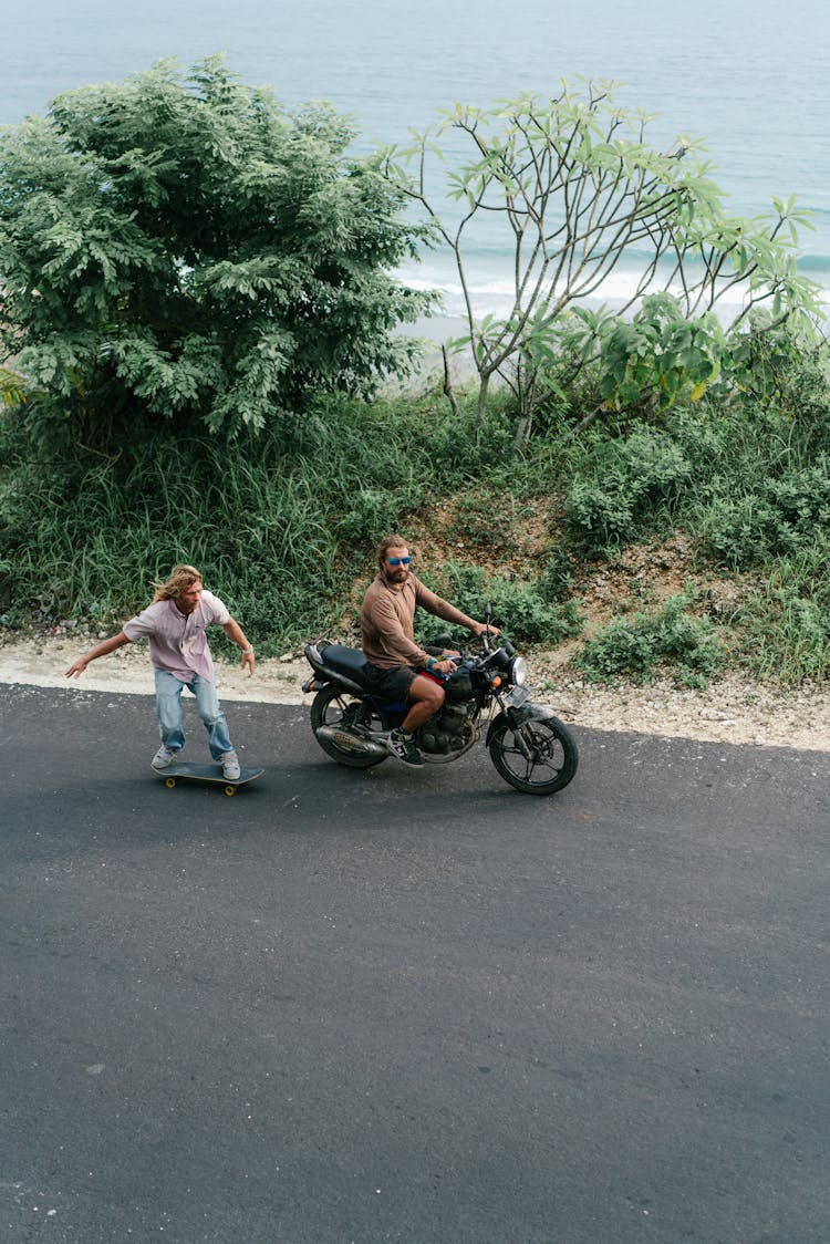
[[[830,751],[581,730],[535,799],[228,704],[228,799],[148,699],[0,713],[2,1244],[830,1239]]]

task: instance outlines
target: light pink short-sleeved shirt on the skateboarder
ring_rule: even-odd
[[[192,683],[194,674],[212,683],[213,657],[205,627],[212,622],[224,626],[229,618],[219,597],[203,592],[193,613],[182,613],[175,601],[157,601],[124,622],[123,632],[131,643],[149,638],[149,659],[157,669],[166,669],[183,683]]]

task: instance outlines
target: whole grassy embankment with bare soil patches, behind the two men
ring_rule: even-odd
[[[437,393],[321,401],[230,448],[146,434],[116,460],[45,460],[6,413],[0,622],[110,631],[189,561],[266,656],[347,632],[372,545],[397,529],[431,586],[474,616],[490,600],[521,643],[567,639],[589,677],[820,682],[830,388],[804,369],[788,386],[580,437],[570,411],[521,453],[509,411],[477,427],[472,402],[454,418]]]

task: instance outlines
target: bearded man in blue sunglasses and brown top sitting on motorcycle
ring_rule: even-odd
[[[389,702],[406,700],[409,710],[402,724],[392,730],[387,746],[392,755],[408,765],[422,765],[423,756],[413,734],[438,712],[444,702],[444,689],[427,672],[449,674],[455,669],[452,654],[429,656],[414,641],[414,611],[421,606],[428,613],[464,626],[474,634],[497,627],[474,622],[441,596],[436,596],[409,570],[412,557],[403,536],[385,536],[377,550],[378,573],[363,597],[361,632],[367,674],[373,693]],[[458,656],[455,653],[455,656]]]

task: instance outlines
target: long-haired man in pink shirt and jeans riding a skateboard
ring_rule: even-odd
[[[254,673],[254,649],[239,623],[231,618],[218,596],[202,586],[202,575],[194,566],[174,566],[164,583],[158,583],[152,603],[118,634],[105,639],[78,657],[66,671],[66,677],[80,677],[91,661],[106,657],[126,643],[149,638],[149,657],[156,677],[156,713],[162,745],[153,756],[153,769],[164,770],[179,759],[184,746],[182,729],[182,692],[187,687],[195,695],[199,717],[208,731],[210,755],[221,765],[228,781],[240,775],[239,758],[228,734],[228,722],[217,697],[213,657],[205,629],[218,623],[238,643],[243,653],[243,669]]]

